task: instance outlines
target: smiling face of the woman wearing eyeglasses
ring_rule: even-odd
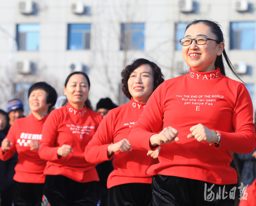
[[[203,23],[192,24],[184,34],[184,37],[191,39],[199,36],[216,40],[216,36],[211,32],[211,28]],[[197,45],[195,40],[193,40],[191,45],[182,46],[182,56],[187,65],[194,71],[214,71],[216,57],[222,54],[224,46],[224,42],[218,44],[212,40],[207,40],[204,45]]]

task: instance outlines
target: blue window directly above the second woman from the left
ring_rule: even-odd
[[[68,49],[90,49],[91,24],[68,25]]]

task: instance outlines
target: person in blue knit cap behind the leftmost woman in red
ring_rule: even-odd
[[[15,119],[24,117],[23,111],[23,103],[19,99],[13,99],[7,103],[9,126],[13,124]]]

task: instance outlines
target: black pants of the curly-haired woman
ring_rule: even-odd
[[[152,206],[151,184],[128,183],[109,189],[109,206]]]

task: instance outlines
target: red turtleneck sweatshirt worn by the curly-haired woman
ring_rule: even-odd
[[[114,171],[110,173],[107,187],[126,183],[152,182],[152,175],[146,174],[147,169],[158,163],[158,159],[147,156],[147,150],[131,146],[132,151],[115,152],[107,155],[108,146],[128,138],[128,131],[136,123],[146,103],[130,102],[111,109],[103,118],[99,129],[85,149],[85,159],[98,164],[110,160],[114,156]]]

